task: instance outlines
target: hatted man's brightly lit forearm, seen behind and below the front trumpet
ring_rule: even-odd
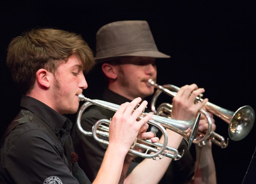
[[[177,133],[167,130],[168,132],[168,146],[177,148],[181,141],[182,136]],[[163,142],[164,137],[160,138],[160,143]],[[132,173],[125,179],[125,184],[140,183],[140,184],[157,184],[164,173],[166,172],[172,159],[164,157],[160,160],[144,159],[138,166],[136,166]]]

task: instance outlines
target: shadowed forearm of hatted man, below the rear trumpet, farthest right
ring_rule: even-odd
[[[203,147],[196,146],[196,157],[194,184],[216,184],[216,170],[211,143]]]

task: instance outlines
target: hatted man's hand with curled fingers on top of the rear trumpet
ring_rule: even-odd
[[[205,89],[198,88],[196,84],[181,87],[177,95],[172,99],[171,117],[176,120],[191,120],[195,118],[199,110],[208,101],[205,98],[199,103],[195,103],[196,97],[203,92],[205,92]]]

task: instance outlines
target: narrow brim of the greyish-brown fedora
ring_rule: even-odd
[[[171,57],[159,51],[138,51],[138,52],[119,54],[119,55],[110,55],[105,57],[95,57],[94,59],[96,60],[96,63],[103,63],[103,62],[110,61],[115,58],[124,57],[124,56],[154,57],[154,58],[170,58]]]

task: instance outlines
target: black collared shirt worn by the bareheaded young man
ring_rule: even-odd
[[[90,183],[71,158],[71,153],[75,155],[71,121],[32,97],[23,95],[20,106],[0,149],[0,171],[6,182]]]

